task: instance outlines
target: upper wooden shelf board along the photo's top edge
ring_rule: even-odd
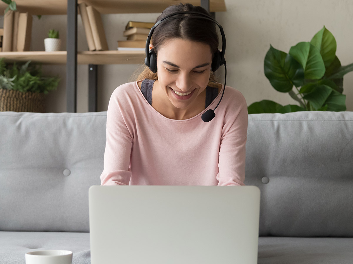
[[[169,5],[190,3],[201,5],[200,0],[78,0],[94,6],[101,14],[118,13],[161,13]],[[67,0],[16,0],[17,10],[33,15],[66,14]],[[4,13],[7,5],[0,1],[0,13]],[[210,12],[226,11],[225,0],[210,0]]]

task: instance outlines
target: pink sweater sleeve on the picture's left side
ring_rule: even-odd
[[[130,157],[133,143],[131,131],[122,115],[118,90],[110,97],[107,110],[107,141],[104,151],[104,169],[101,185],[128,185],[131,178]],[[123,100],[123,99],[122,99]]]

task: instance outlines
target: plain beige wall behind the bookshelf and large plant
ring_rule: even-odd
[[[237,88],[245,96],[248,106],[264,99],[280,104],[296,104],[288,95],[276,91],[264,76],[263,60],[270,44],[288,52],[301,41],[310,41],[323,25],[337,41],[336,55],[342,65],[353,62],[351,0],[225,0],[227,11],[216,13],[226,39],[227,85]],[[154,22],[159,13],[103,15],[108,47],[116,49],[117,40],[125,40],[122,32],[128,20]],[[33,23],[32,49],[44,50],[43,39],[51,28],[60,30],[66,46],[66,16],[36,17]],[[78,50],[86,50],[82,21],[78,16]],[[143,65],[143,61],[141,64]],[[98,66],[98,111],[106,111],[110,95],[120,84],[130,81],[138,65]],[[47,98],[47,112],[66,112],[65,65],[43,66],[48,74],[58,74],[58,90]],[[224,66],[216,72],[224,82]],[[88,111],[88,65],[78,65],[78,112]],[[344,77],[343,94],[347,96],[348,111],[353,111],[353,73]]]

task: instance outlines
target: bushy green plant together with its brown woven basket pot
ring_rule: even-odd
[[[44,113],[44,99],[56,90],[58,77],[45,77],[41,65],[5,63],[0,58],[0,111]]]

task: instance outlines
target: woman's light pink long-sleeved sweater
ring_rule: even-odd
[[[215,118],[201,119],[222,91],[202,113],[175,120],[158,113],[137,82],[116,88],[107,110],[101,185],[244,185],[244,96],[226,86]]]

